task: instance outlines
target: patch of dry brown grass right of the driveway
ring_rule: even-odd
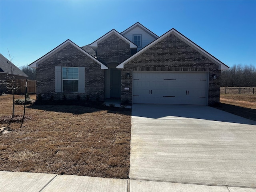
[[[256,94],[220,94],[216,108],[256,121]]]

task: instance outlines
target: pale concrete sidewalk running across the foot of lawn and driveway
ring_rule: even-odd
[[[255,188],[0,171],[1,192],[256,192]]]

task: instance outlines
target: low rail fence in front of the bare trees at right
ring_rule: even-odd
[[[220,87],[224,94],[256,94],[256,87]]]

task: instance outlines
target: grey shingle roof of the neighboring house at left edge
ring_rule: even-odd
[[[0,54],[0,73],[13,74],[28,77],[22,70],[16,67],[12,62]]]

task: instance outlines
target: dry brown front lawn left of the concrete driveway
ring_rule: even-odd
[[[15,114],[23,110],[15,105]],[[11,113],[11,96],[0,96],[0,116]],[[130,111],[30,105],[26,115],[22,128],[12,122],[0,135],[1,171],[129,177]]]

